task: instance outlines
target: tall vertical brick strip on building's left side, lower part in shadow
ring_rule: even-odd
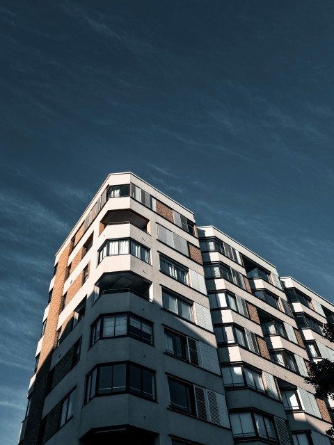
[[[41,419],[45,395],[48,389],[48,374],[51,364],[52,352],[57,343],[58,316],[61,312],[63,300],[63,286],[67,269],[67,261],[72,243],[68,243],[58,261],[54,288],[49,308],[49,316],[45,327],[45,334],[40,351],[40,360],[36,373],[33,392],[31,395],[31,407],[26,423],[26,432],[22,444],[39,445],[42,441]]]

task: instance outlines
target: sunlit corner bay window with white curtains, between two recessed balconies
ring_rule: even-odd
[[[104,257],[132,254],[134,257],[150,264],[150,249],[130,239],[106,241],[99,252],[99,264]]]

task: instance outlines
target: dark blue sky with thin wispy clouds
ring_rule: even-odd
[[[332,0],[0,0],[0,442],[54,254],[132,171],[334,302]]]

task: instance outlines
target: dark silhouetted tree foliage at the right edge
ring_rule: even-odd
[[[334,323],[324,325],[324,337],[334,342]],[[331,398],[334,400],[334,362],[322,359],[320,362],[310,364],[310,377],[305,380],[315,387],[315,397]],[[334,437],[334,427],[326,431],[330,437]]]

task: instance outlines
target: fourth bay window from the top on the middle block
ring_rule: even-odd
[[[221,326],[215,327],[217,343],[237,343],[239,346],[249,349],[252,353],[260,355],[260,349],[254,332],[244,327],[237,326]]]

